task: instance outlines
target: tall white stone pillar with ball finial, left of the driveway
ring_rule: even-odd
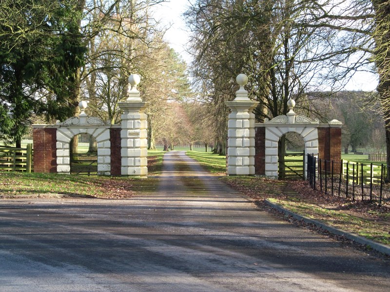
[[[129,77],[129,90],[126,102],[120,102],[123,110],[121,139],[121,175],[147,176],[148,175],[148,141],[147,115],[144,113],[149,103],[140,98],[137,85],[140,78],[137,74]]]

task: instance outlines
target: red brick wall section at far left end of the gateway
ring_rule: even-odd
[[[34,128],[34,172],[57,172],[57,128]]]

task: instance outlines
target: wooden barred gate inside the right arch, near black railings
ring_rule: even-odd
[[[291,152],[279,154],[279,179],[305,179],[305,153]]]

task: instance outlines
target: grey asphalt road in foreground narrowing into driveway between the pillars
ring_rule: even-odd
[[[259,210],[181,152],[153,196],[0,200],[0,292],[389,292],[389,264]]]

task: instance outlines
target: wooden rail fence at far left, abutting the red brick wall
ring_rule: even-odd
[[[33,164],[33,145],[26,148],[0,146],[0,171],[31,172]]]

